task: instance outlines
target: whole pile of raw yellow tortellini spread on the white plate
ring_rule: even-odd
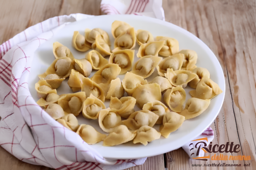
[[[36,83],[38,105],[88,144],[103,140],[104,146],[114,146],[133,140],[134,144],[147,145],[161,135],[167,138],[185,119],[199,116],[210,99],[222,93],[210,79],[209,71],[195,65],[197,53],[179,51],[174,38],[154,39],[149,31],[135,31],[123,21],[114,21],[111,33],[115,38],[112,51],[104,30],[85,29],[85,36],[75,31],[72,46],[83,52],[93,49],[83,59],[74,58],[67,47],[55,42],[55,60]],[[140,45],[140,59],[134,63],[136,42]],[[110,56],[109,61],[106,56]],[[155,68],[159,76],[147,82],[145,78]],[[88,78],[92,69],[97,72]],[[119,74],[126,74],[122,81]],[[76,93],[58,95],[56,89],[67,77],[69,87]],[[183,108],[187,85],[194,90]],[[165,104],[161,102],[162,95]],[[104,105],[106,99],[110,99],[109,108]],[[135,104],[140,111],[135,112]],[[97,119],[100,128],[109,134],[99,133],[90,125],[78,125],[76,116],[80,113],[85,119]],[[160,125],[160,132],[152,128],[155,124]]]

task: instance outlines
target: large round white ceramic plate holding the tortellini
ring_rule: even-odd
[[[211,100],[211,104],[203,112],[200,116],[197,116],[194,119],[189,119],[184,121],[183,125],[171,133],[170,136],[166,139],[161,136],[159,140],[154,140],[144,146],[142,144],[133,144],[132,141],[121,144],[114,147],[103,147],[102,142],[91,145],[92,148],[96,149],[104,158],[109,159],[133,159],[133,158],[142,158],[155,156],[159,154],[166,153],[168,151],[172,151],[182,147],[185,143],[194,139],[200,135],[204,129],[209,127],[211,123],[214,121],[216,116],[218,115],[220,108],[223,104],[224,95],[225,95],[225,79],[223,75],[223,70],[218,62],[216,56],[209,49],[209,47],[204,44],[201,40],[199,40],[196,36],[188,31],[175,26],[171,23],[161,21],[159,19],[153,19],[145,16],[135,16],[135,15],[103,15],[103,16],[95,16],[89,19],[85,19],[83,21],[78,21],[71,23],[64,28],[62,28],[59,33],[54,35],[50,40],[45,42],[43,45],[39,47],[36,51],[35,56],[33,58],[33,65],[31,66],[31,75],[29,79],[29,90],[31,92],[32,97],[35,101],[38,100],[35,90],[35,84],[38,82],[37,75],[42,74],[48,68],[48,66],[54,61],[55,57],[52,53],[52,44],[56,41],[62,43],[66,47],[68,47],[73,56],[75,58],[81,59],[85,57],[87,52],[79,52],[76,51],[71,46],[71,39],[74,31],[79,31],[82,35],[84,35],[85,28],[101,28],[109,34],[111,40],[111,50],[114,48],[114,37],[111,35],[111,24],[113,21],[125,21],[129,23],[131,26],[135,28],[135,30],[142,29],[148,30],[152,33],[154,37],[156,36],[167,36],[173,37],[178,40],[181,49],[192,49],[197,52],[197,67],[207,68],[211,74],[211,79],[216,82],[220,88],[223,90],[223,93],[217,95],[215,98]],[[136,43],[135,54],[139,46]],[[135,55],[135,61],[138,60]],[[90,77],[95,73],[92,72]],[[157,70],[155,69],[154,73],[147,78],[148,81],[151,81],[154,77],[158,76]],[[124,75],[118,76],[121,80],[124,78]],[[57,89],[57,93],[72,93],[71,89],[67,84],[68,79],[64,80],[62,85]],[[187,98],[191,98],[189,91],[192,90],[189,86],[185,88],[187,93]],[[106,107],[109,107],[109,100],[105,101]],[[137,106],[135,106],[135,111],[140,110]],[[101,133],[104,133],[99,125],[97,120],[88,120],[83,118],[82,114],[78,116],[79,124],[85,123],[90,124],[95,127]],[[156,130],[159,130],[159,126],[154,126]]]

